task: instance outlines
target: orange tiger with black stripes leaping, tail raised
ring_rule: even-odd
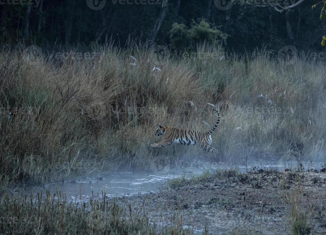
[[[159,125],[156,129],[156,137],[159,138],[161,135],[164,136],[163,140],[158,144],[152,144],[152,148],[165,147],[177,143],[179,145],[200,145],[201,149],[207,152],[214,152],[218,155],[218,150],[212,146],[211,134],[215,131],[218,124],[220,123],[220,113],[218,110],[213,109],[212,111],[217,112],[217,122],[215,126],[209,132],[184,130],[176,127],[169,127]]]

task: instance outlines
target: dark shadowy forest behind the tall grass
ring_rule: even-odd
[[[2,44],[24,39],[27,45],[45,48],[54,44],[87,48],[109,39],[124,46],[131,38],[180,48],[206,39],[234,51],[262,47],[277,51],[284,45],[323,49],[320,12],[311,8],[316,4],[311,0],[235,0],[228,10],[216,7],[214,0],[149,0],[146,4],[107,0],[100,10],[88,7],[86,0],[13,1],[1,1]]]

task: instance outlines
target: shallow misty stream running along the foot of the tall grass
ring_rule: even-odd
[[[301,165],[300,165],[301,164]],[[113,197],[129,197],[138,194],[154,193],[159,187],[165,185],[165,183],[173,178],[185,175],[190,176],[193,174],[201,174],[206,170],[214,171],[216,169],[235,169],[239,172],[249,172],[259,169],[277,169],[284,171],[286,169],[301,169],[301,170],[320,170],[325,168],[324,162],[279,162],[279,164],[256,164],[248,163],[245,165],[234,165],[229,167],[228,165],[220,163],[206,162],[202,164],[202,167],[196,169],[190,168],[172,168],[169,169],[161,167],[156,169],[155,172],[118,172],[118,173],[106,173],[101,176],[92,177],[80,177],[74,180],[68,180],[64,183],[56,183],[51,185],[45,185],[44,187],[31,187],[26,189],[27,196],[33,193],[33,198],[36,198],[37,193],[42,193],[43,197],[46,197],[46,191],[54,193],[61,193],[62,196],[66,196],[69,201],[88,201],[94,195],[95,198],[105,194],[107,198]],[[180,167],[180,165],[179,165]],[[21,192],[17,193],[21,195]]]

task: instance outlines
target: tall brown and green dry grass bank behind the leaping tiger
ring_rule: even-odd
[[[265,50],[237,56],[200,46],[157,65],[149,46],[132,42],[94,52],[92,59],[43,56],[31,65],[20,50],[1,51],[2,183],[148,169],[157,154],[213,158],[193,146],[150,148],[158,124],[210,130],[217,117],[207,103],[222,117],[212,135],[218,160],[325,159],[322,61],[283,65]]]

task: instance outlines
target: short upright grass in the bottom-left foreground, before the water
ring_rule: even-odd
[[[121,205],[108,200],[103,191],[87,202],[69,200],[58,191],[33,196],[3,194],[2,234],[194,234],[191,227],[183,226],[179,206],[174,210],[147,198]]]

